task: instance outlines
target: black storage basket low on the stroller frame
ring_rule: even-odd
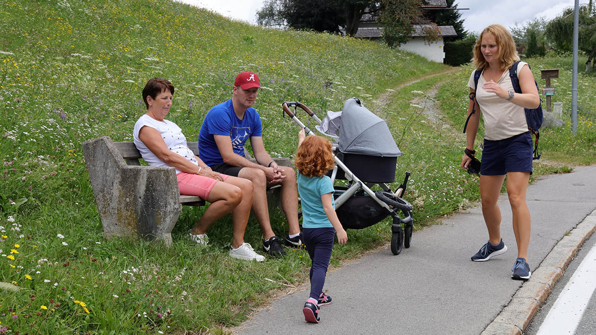
[[[341,196],[347,187],[334,186],[334,198]],[[337,218],[344,229],[363,229],[387,218],[387,210],[364,191],[357,191],[346,203],[336,209]]]

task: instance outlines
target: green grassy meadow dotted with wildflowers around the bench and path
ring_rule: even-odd
[[[173,83],[167,119],[197,141],[205,113],[231,97],[235,75],[258,73],[263,140],[279,157],[293,157],[299,131],[283,117],[283,101],[322,116],[359,97],[387,120],[403,151],[392,186],[412,172],[406,198],[418,229],[478,198],[478,179],[458,168],[469,67],[396,89],[449,68],[375,42],[250,26],[168,0],[0,0],[0,8],[0,334],[228,333],[308,279],[304,250],[262,263],[229,258],[229,218],[210,228],[209,246],[193,244],[186,235],[201,208],[184,208],[170,247],[104,238],[81,143],[103,135],[132,141],[151,77]],[[555,85],[567,106],[567,58],[532,66],[559,63]],[[560,164],[538,163],[535,176],[594,161],[595,80],[581,80],[578,134],[570,135],[569,116],[563,128],[544,131],[543,157]],[[434,98],[440,123],[411,102],[436,83],[447,84]],[[283,215],[272,218],[285,234]],[[386,247],[390,229],[384,221],[348,234],[332,266]],[[261,238],[251,218],[246,241],[260,251]]]

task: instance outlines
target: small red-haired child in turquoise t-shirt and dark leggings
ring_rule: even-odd
[[[305,131],[302,129],[298,134],[298,151],[294,161],[299,172],[302,234],[312,260],[309,274],[311,295],[302,312],[306,321],[318,323],[321,320],[319,306],[331,303],[331,297],[323,293],[323,285],[335,233],[337,231],[339,244],[346,244],[347,234],[335,212],[331,178],[325,175],[334,165],[331,143],[316,135],[305,139]]]

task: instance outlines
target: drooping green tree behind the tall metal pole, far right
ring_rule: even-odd
[[[572,51],[573,41],[573,8],[567,8],[547,25],[547,36],[554,42],[557,51]],[[596,67],[596,15],[592,0],[588,5],[579,7],[579,44],[581,51],[588,55],[586,72]]]

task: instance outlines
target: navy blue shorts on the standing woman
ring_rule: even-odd
[[[532,145],[530,132],[498,141],[485,139],[480,174],[502,176],[507,172],[532,173]]]

